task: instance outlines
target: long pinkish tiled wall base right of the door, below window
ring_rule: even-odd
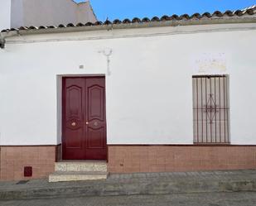
[[[256,146],[109,146],[110,173],[256,169]]]

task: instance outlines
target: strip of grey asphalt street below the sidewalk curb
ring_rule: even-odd
[[[255,206],[256,193],[200,193],[83,197],[74,199],[20,199],[1,201],[1,206]]]

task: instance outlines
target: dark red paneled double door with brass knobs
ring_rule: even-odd
[[[104,77],[66,77],[62,85],[63,160],[106,160]]]

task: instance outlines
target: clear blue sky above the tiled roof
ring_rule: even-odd
[[[85,0],[75,0],[84,2]],[[225,12],[256,4],[256,0],[90,0],[99,21],[107,18],[162,17],[196,12]]]

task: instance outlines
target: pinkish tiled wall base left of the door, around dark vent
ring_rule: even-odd
[[[0,180],[46,178],[54,171],[56,146],[2,146]],[[32,167],[32,176],[24,176],[24,167]]]

